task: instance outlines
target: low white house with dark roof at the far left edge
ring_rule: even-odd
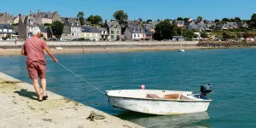
[[[5,38],[7,35],[12,37],[13,34],[16,34],[14,26],[9,24],[0,24],[0,38]]]

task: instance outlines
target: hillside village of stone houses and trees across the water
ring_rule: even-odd
[[[63,30],[61,37],[56,38],[52,24],[61,21]],[[7,12],[0,13],[0,40],[26,39],[32,37],[35,28],[41,30],[45,40],[61,41],[153,41],[153,40],[253,40],[254,34],[247,33],[249,28],[247,21],[233,20],[204,20],[199,16],[196,20],[191,18],[177,18],[165,20],[172,25],[174,34],[172,38],[156,39],[155,27],[163,20],[125,20],[125,26],[119,24],[119,20],[102,20],[92,24],[84,20],[84,25],[78,17],[62,17],[55,12],[29,12],[29,15],[10,15]],[[248,36],[250,35],[250,36]],[[255,36],[256,37],[256,36]]]

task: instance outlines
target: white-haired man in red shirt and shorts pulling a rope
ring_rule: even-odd
[[[43,100],[46,100],[48,98],[48,96],[46,95],[46,61],[44,56],[44,50],[53,59],[53,61],[58,61],[48,48],[46,42],[43,39],[40,39],[40,30],[34,29],[32,35],[32,38],[26,39],[21,49],[21,54],[26,55],[26,67],[29,77],[32,79],[33,86],[37,92],[38,102],[42,102]],[[40,87],[38,84],[38,76],[41,79],[43,96],[41,96]]]

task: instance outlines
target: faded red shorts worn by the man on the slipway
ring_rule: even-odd
[[[40,79],[45,78],[46,66],[39,62],[32,62],[27,66],[27,72],[29,74],[30,79]]]

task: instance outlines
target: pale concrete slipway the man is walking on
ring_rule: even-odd
[[[49,99],[38,102],[32,84],[0,72],[0,127],[44,128],[139,128],[125,121],[48,91]],[[86,119],[94,111],[106,119]]]

